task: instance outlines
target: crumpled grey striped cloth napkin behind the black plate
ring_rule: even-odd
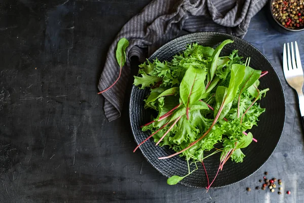
[[[164,43],[178,36],[184,29],[194,31],[220,31],[243,38],[250,19],[267,0],[154,0],[127,22],[111,44],[98,89],[109,87],[119,75],[116,46],[121,38],[129,40],[126,64],[120,80],[104,96],[104,113],[109,121],[121,116],[125,90],[130,75],[130,58],[138,56],[144,61]],[[143,50],[147,48],[145,55]]]

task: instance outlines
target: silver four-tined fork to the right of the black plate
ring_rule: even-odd
[[[286,44],[284,44],[283,71],[287,83],[298,94],[300,113],[303,121],[302,124],[304,127],[304,95],[302,92],[303,81],[304,81],[303,69],[301,65],[301,59],[300,59],[297,43],[294,42],[294,49],[293,49],[293,43],[291,42],[290,44],[291,44],[291,50],[289,49],[289,43],[287,43],[287,51],[286,51]],[[290,52],[291,52],[291,56],[290,56]]]

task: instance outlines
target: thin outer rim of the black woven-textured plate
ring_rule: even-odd
[[[281,83],[281,80],[280,80],[280,77],[277,73],[277,71],[275,70],[274,66],[272,65],[272,63],[269,61],[269,59],[260,51],[258,50],[255,46],[253,46],[252,44],[250,44],[249,42],[243,40],[243,39],[240,39],[240,38],[237,38],[235,36],[232,36],[232,35],[229,35],[227,33],[222,33],[222,32],[216,32],[216,31],[201,31],[201,32],[193,32],[193,33],[188,33],[188,34],[185,34],[185,35],[182,35],[182,36],[179,36],[179,37],[176,37],[172,40],[170,40],[169,42],[165,43],[164,45],[162,45],[161,47],[159,47],[155,52],[153,52],[149,57],[148,59],[151,59],[151,58],[155,58],[155,55],[158,53],[158,51],[160,49],[162,49],[163,47],[166,47],[176,41],[178,41],[179,39],[182,39],[182,38],[185,38],[185,37],[196,37],[196,36],[201,36],[201,35],[219,35],[219,36],[222,36],[222,37],[227,37],[227,38],[232,38],[233,40],[238,40],[238,41],[241,41],[245,44],[247,44],[248,46],[250,46],[252,49],[254,49],[255,51],[257,51],[261,57],[263,57],[269,64],[270,64],[270,67],[271,69],[273,70],[275,76],[278,78],[278,82],[279,82],[279,86],[280,86],[280,90],[282,92],[282,96],[283,96],[283,104],[284,104],[284,115],[283,115],[283,124],[282,124],[282,130],[280,132],[280,136],[279,136],[279,139],[275,145],[275,147],[273,148],[272,152],[270,153],[270,155],[268,156],[268,158],[266,158],[264,160],[264,162],[262,162],[262,164],[260,164],[259,167],[257,167],[257,169],[252,172],[250,175],[238,180],[238,181],[235,181],[233,183],[230,183],[230,184],[223,184],[221,186],[216,186],[216,187],[210,187],[210,189],[216,189],[216,188],[222,188],[222,187],[226,187],[226,186],[230,186],[230,185],[233,185],[233,184],[236,184],[236,183],[239,183],[245,179],[247,179],[248,177],[252,176],[253,174],[255,174],[269,159],[270,157],[273,155],[274,151],[277,149],[277,146],[278,144],[280,143],[280,140],[282,138],[282,134],[283,134],[283,131],[284,131],[284,127],[285,127],[285,122],[286,122],[286,98],[285,98],[285,93],[284,93],[284,89],[283,89],[283,86],[282,86],[282,83]],[[134,130],[132,128],[132,117],[131,117],[131,107],[132,107],[132,100],[133,100],[133,97],[132,97],[132,93],[134,92],[135,88],[138,88],[136,87],[135,85],[132,86],[132,90],[131,90],[131,96],[130,96],[130,101],[129,101],[129,122],[130,122],[130,125],[131,125],[131,130],[132,130],[132,134],[133,134],[133,137],[134,137],[134,140],[135,140],[135,143],[138,145],[140,142],[137,142],[136,141],[136,135],[134,133]],[[139,124],[138,124],[139,125]],[[153,142],[151,140],[148,140],[147,142]],[[155,165],[153,162],[150,161],[150,159],[144,154],[143,150],[141,149],[141,147],[139,147],[142,155],[144,156],[144,158],[148,161],[149,164],[151,164],[160,174],[162,174],[163,176],[169,178],[170,176],[166,173],[164,173],[163,171],[160,171]],[[188,187],[193,187],[193,188],[203,188],[203,187],[198,187],[198,186],[194,186],[194,185],[191,185],[191,184],[187,184],[185,182],[179,182],[179,184],[181,185],[184,185],[184,186],[188,186]]]

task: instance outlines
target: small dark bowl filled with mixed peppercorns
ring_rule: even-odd
[[[270,0],[270,19],[282,33],[304,30],[304,0]]]

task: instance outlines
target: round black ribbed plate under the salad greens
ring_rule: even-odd
[[[257,143],[252,142],[247,148],[242,149],[246,157],[242,163],[227,161],[223,170],[219,172],[212,188],[219,188],[237,183],[256,172],[272,155],[278,142],[285,122],[285,98],[280,79],[269,60],[255,47],[237,37],[219,32],[196,32],[178,37],[161,48],[149,57],[149,60],[170,60],[173,55],[185,49],[189,43],[197,42],[203,46],[215,48],[226,39],[234,40],[221,51],[221,55],[229,55],[234,49],[239,50],[239,55],[251,57],[250,66],[254,69],[268,71],[269,74],[260,79],[260,89],[270,88],[266,97],[260,102],[266,112],[260,116],[258,127],[250,130]],[[133,86],[130,99],[130,122],[132,132],[137,144],[149,136],[148,132],[142,132],[140,125],[150,121],[151,111],[144,109],[143,99],[148,94],[148,89],[140,90]],[[184,176],[188,173],[187,163],[184,158],[175,156],[165,160],[158,157],[168,156],[173,153],[166,147],[155,146],[153,139],[148,140],[140,146],[140,150],[147,161],[152,164],[161,174],[166,177],[173,175]],[[136,151],[139,153],[139,151]],[[215,154],[204,161],[209,179],[213,179],[219,164],[219,154]],[[207,186],[207,179],[201,164],[199,170],[186,177],[180,184],[204,188]],[[195,166],[192,165],[192,170]]]

